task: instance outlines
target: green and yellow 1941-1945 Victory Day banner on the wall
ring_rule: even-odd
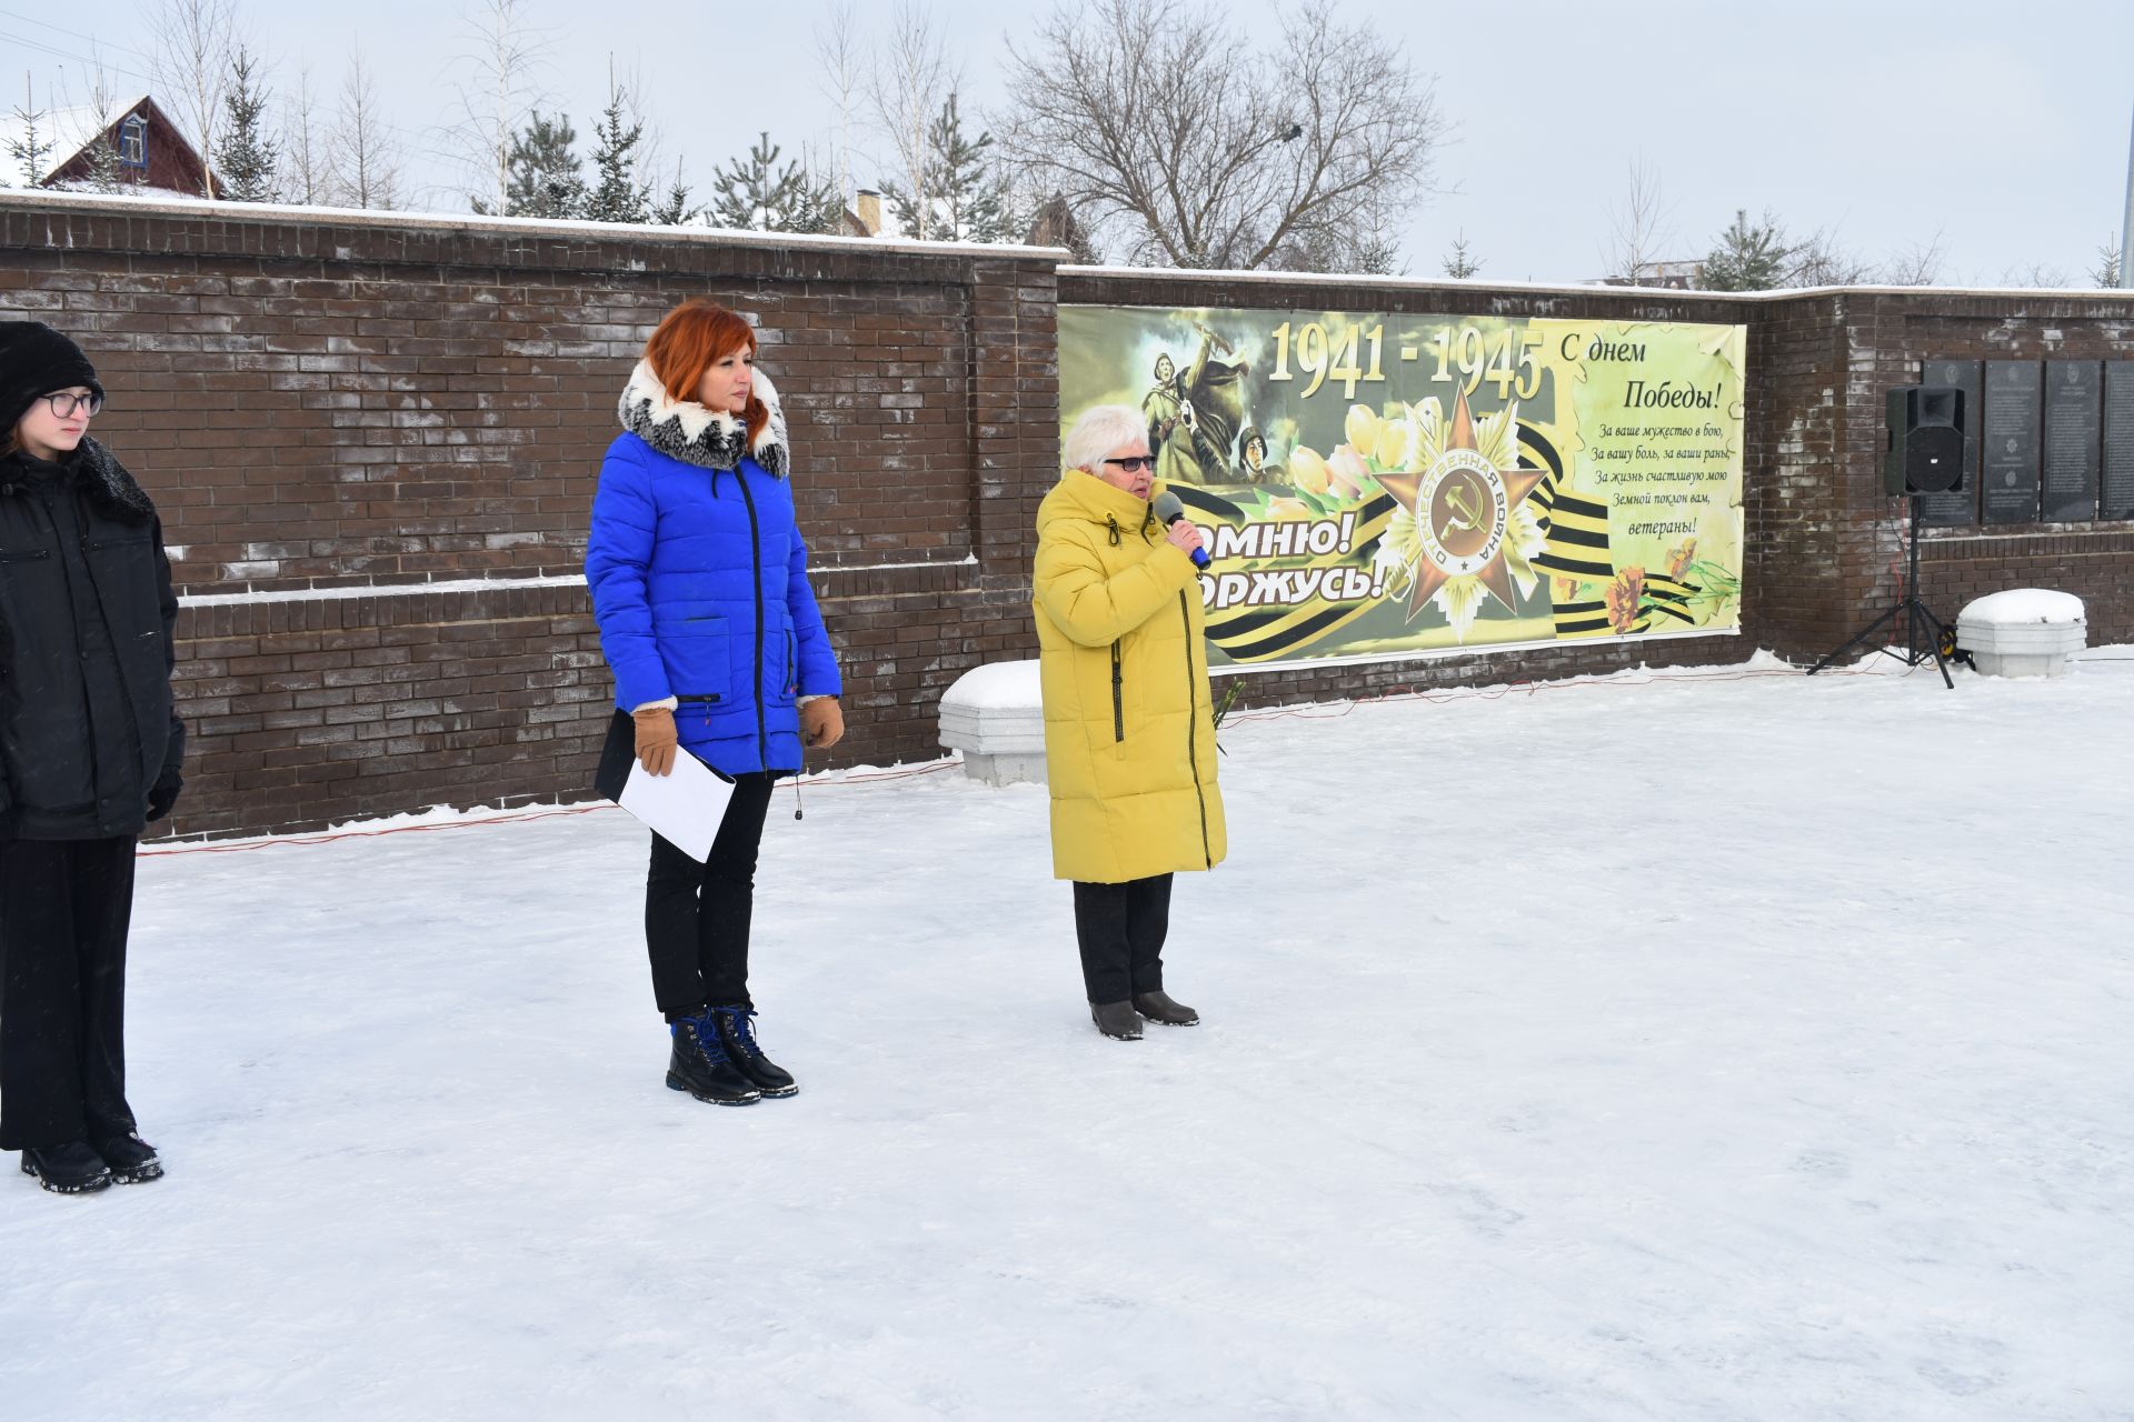
[[[1210,665],[1731,633],[1743,326],[1061,307],[1061,431],[1148,418]]]

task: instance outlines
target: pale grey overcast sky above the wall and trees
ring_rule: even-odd
[[[472,2],[241,4],[280,85],[309,66],[331,96],[361,45],[408,147],[410,185],[427,207],[465,211],[440,130],[455,117],[463,70],[452,58],[465,49]],[[152,9],[154,0],[87,9],[0,0],[4,104],[21,102],[23,70],[45,83],[68,64],[79,85],[92,26],[109,64],[145,66]],[[969,115],[1001,102],[1005,41],[1026,38],[1050,0],[935,0],[933,9],[962,60]],[[1633,160],[1660,181],[1673,230],[1667,256],[1701,256],[1737,207],[1769,207],[1795,232],[1833,230],[1876,260],[1940,235],[1944,284],[2027,284],[2038,269],[2081,279],[2098,245],[2119,239],[2134,115],[2128,0],[1338,0],[1338,9],[1398,38],[1434,77],[1455,124],[1438,162],[1443,192],[1402,230],[1415,275],[1436,275],[1460,230],[1483,277],[1596,275]],[[860,0],[860,26],[886,11]],[[760,128],[792,156],[834,124],[813,81],[822,0],[531,0],[529,13],[553,41],[553,107],[585,134],[612,53],[621,72],[638,77],[662,151],[681,156],[700,190]],[[1229,0],[1225,13],[1246,47],[1274,28],[1268,4]]]

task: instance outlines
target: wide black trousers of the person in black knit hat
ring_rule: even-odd
[[[0,840],[0,1149],[124,1136],[134,840]]]

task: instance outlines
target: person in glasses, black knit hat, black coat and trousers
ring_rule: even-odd
[[[0,1149],[62,1194],[162,1175],[126,1104],[126,927],[186,750],[162,524],[85,435],[102,403],[79,345],[0,322]]]

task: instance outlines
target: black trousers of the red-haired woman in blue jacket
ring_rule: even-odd
[[[749,915],[755,906],[755,851],[777,776],[734,776],[734,797],[698,863],[657,834],[644,876],[644,947],[653,959],[653,998],[668,1021],[700,1006],[749,1002]]]

